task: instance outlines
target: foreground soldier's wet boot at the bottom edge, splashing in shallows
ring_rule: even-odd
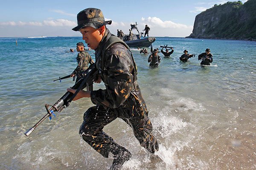
[[[131,153],[116,143],[111,146],[111,153],[114,154],[114,160],[109,170],[121,170],[125,161],[131,158]]]

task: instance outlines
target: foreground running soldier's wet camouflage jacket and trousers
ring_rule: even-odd
[[[141,146],[154,153],[158,150],[157,139],[151,133],[152,124],[137,84],[131,51],[122,43],[114,43],[107,48],[108,42],[121,41],[112,37],[107,29],[95,51],[96,67],[106,89],[91,92],[91,101],[96,106],[84,113],[79,133],[93,149],[108,158],[109,152],[116,154],[120,146],[102,129],[116,118],[121,118],[132,127]]]

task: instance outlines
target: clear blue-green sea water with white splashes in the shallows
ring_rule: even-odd
[[[16,45],[17,40],[17,45]],[[103,158],[79,136],[83,113],[93,106],[80,99],[29,137],[24,132],[45,114],[72,79],[53,82],[76,67],[81,37],[0,38],[0,169],[105,170]],[[155,155],[135,139],[131,128],[116,119],[104,128],[132,154],[124,170],[253,170],[256,169],[256,42],[157,37],[154,48],[173,46],[170,58],[148,67],[148,55],[132,48],[138,83],[160,143]],[[211,49],[212,66],[197,56]],[[184,49],[197,54],[189,62]],[[150,51],[150,49],[148,49]],[[94,59],[94,51],[89,51]],[[94,89],[104,88],[96,84]]]

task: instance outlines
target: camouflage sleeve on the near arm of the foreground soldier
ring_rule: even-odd
[[[117,108],[125,102],[132,90],[134,65],[131,57],[124,54],[112,54],[105,61],[103,71],[106,89],[91,92],[91,101],[95,105]]]

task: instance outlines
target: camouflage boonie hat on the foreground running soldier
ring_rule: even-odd
[[[111,24],[112,21],[105,21],[102,11],[97,8],[86,8],[77,14],[77,25],[72,30],[78,31],[79,29],[89,26],[98,29],[106,24]]]

